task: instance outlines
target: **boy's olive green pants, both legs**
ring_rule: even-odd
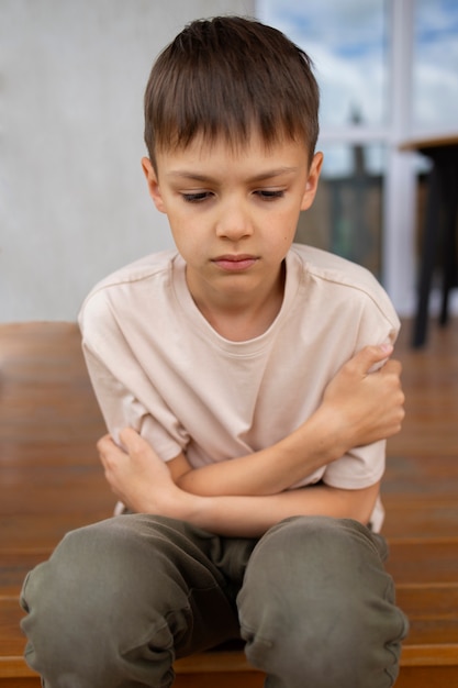
[[[46,688],[167,688],[175,658],[242,635],[268,688],[389,688],[407,622],[386,555],[351,520],[287,519],[257,541],[115,517],[29,574],[25,658]]]

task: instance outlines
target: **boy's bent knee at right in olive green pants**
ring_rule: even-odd
[[[346,672],[348,685],[391,685],[377,684],[375,675],[358,679],[361,663],[380,668],[384,662],[387,681],[387,666],[395,667],[405,634],[379,541],[359,523],[280,523],[258,543],[238,602],[250,661],[265,670],[276,662],[287,673],[299,667],[291,686],[303,685],[304,676],[316,687],[346,686]],[[328,667],[338,667],[339,679],[333,683]]]

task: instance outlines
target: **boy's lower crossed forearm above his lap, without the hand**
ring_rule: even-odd
[[[367,524],[379,486],[343,490],[320,485],[264,497],[176,495],[164,515],[177,518],[225,536],[258,537],[294,515],[348,518]]]

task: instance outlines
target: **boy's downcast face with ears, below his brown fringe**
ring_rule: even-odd
[[[277,289],[299,212],[315,197],[322,154],[258,138],[232,149],[200,137],[157,154],[157,175],[142,160],[156,208],[167,214],[187,263],[191,293],[236,300]]]

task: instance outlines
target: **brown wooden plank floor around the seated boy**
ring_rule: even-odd
[[[396,688],[458,687],[458,321],[423,349],[404,324],[407,396],[383,482],[388,568],[411,633]],[[38,687],[22,659],[18,596],[64,533],[111,514],[94,442],[104,432],[74,324],[0,325],[0,686]],[[204,673],[202,674],[202,670]],[[177,664],[177,688],[256,688],[242,654]]]

